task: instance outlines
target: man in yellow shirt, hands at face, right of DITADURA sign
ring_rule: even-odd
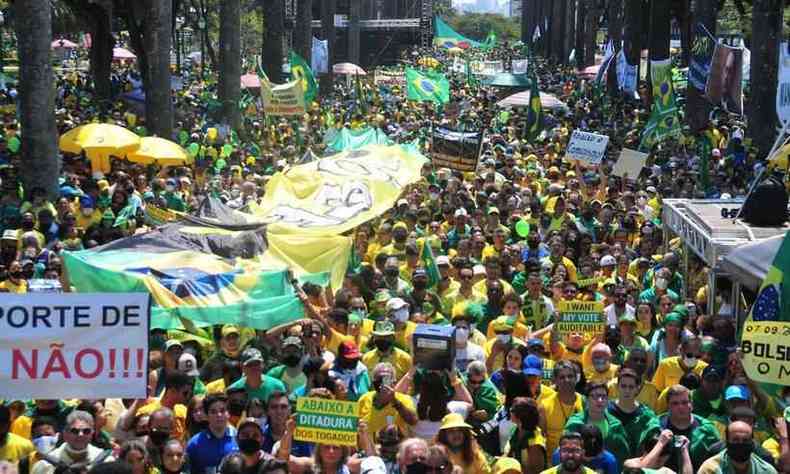
[[[395,391],[399,379],[395,377],[394,367],[381,362],[371,373],[372,389],[359,398],[360,419],[367,422],[368,432],[373,434],[374,441],[378,441],[375,439],[378,433],[389,425],[396,425],[401,433],[410,433],[411,427],[417,424],[417,411],[410,396]]]

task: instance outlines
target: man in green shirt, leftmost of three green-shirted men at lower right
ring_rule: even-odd
[[[606,411],[609,404],[609,390],[604,383],[592,383],[587,386],[586,408],[577,413],[565,423],[565,431],[580,432],[582,426],[592,424],[598,427],[603,434],[606,450],[617,459],[618,467],[623,467],[623,461],[628,459],[630,447],[628,433],[625,427],[615,416]],[[560,451],[562,444],[560,444]]]

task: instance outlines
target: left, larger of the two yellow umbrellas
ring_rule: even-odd
[[[109,173],[110,156],[123,157],[137,149],[140,137],[118,125],[89,123],[64,133],[59,146],[67,153],[79,154],[84,151],[94,173]]]

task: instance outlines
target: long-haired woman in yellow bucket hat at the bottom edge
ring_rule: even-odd
[[[442,426],[436,435],[436,444],[446,447],[450,461],[464,472],[477,474],[491,472],[491,466],[472,433],[472,426],[467,424],[461,415],[450,413],[442,418]]]

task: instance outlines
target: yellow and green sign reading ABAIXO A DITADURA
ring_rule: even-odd
[[[296,400],[294,439],[309,443],[356,446],[359,403],[325,398]]]

